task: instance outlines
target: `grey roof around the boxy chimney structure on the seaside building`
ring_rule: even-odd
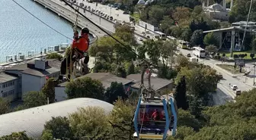
[[[46,59],[48,61],[48,67],[46,67],[46,70],[36,70],[31,69],[27,67],[27,64],[34,64],[34,61],[28,62],[27,64],[17,64],[11,67],[7,67],[5,71],[8,70],[19,70],[22,71],[22,73],[27,73],[33,76],[45,76],[50,73],[56,73],[59,71],[60,63],[61,61],[56,59]]]

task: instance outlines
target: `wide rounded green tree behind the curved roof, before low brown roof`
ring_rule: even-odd
[[[99,80],[84,77],[69,82],[66,86],[68,98],[98,98],[104,99],[104,87]]]

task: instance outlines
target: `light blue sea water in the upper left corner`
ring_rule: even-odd
[[[53,29],[72,39],[72,23],[33,0],[15,1]],[[0,5],[0,62],[5,62],[8,55],[14,56],[21,53],[27,56],[28,51],[40,53],[44,48],[72,42],[41,23],[27,11],[12,1],[2,1]]]

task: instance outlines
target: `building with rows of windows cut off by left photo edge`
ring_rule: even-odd
[[[0,72],[0,91],[1,98],[8,99],[8,101],[14,101],[15,98],[18,98],[18,78]]]

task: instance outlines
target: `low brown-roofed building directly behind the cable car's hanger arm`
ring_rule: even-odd
[[[126,77],[126,79],[131,79],[133,80],[131,89],[132,91],[138,91],[140,89],[140,74],[130,74],[129,76]],[[144,85],[146,87],[149,86],[148,78],[144,78]],[[169,89],[172,90],[174,87],[174,82],[173,80],[168,80],[168,79],[162,79],[158,77],[151,77],[151,86],[153,89],[156,91],[162,91],[163,89]]]

